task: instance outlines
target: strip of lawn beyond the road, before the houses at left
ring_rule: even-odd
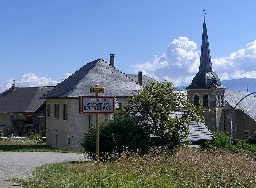
[[[71,151],[54,150],[46,142],[25,140],[25,141],[3,141],[0,142],[0,152],[63,152],[78,153]],[[81,153],[81,152],[80,152]]]

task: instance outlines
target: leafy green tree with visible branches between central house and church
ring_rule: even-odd
[[[190,121],[205,121],[201,115],[206,111],[202,103],[197,106],[192,104],[182,91],[176,90],[172,82],[148,81],[141,91],[135,92],[137,94],[128,99],[128,104],[118,114],[133,117],[141,114],[142,117],[148,117],[153,134],[163,145],[176,145],[178,140],[188,137]],[[184,110],[180,117],[170,117],[170,114],[180,110]]]

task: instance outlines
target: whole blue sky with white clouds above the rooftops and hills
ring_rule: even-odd
[[[199,69],[203,9],[220,80],[256,77],[256,1],[0,1],[0,92],[54,86],[96,59],[176,86]]]

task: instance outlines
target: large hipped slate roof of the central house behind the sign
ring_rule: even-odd
[[[97,59],[84,65],[74,74],[58,84],[41,98],[78,98],[82,95],[92,95],[90,87],[104,87],[100,95],[130,97],[134,90],[141,90],[141,85],[127,75],[109,65],[102,59]]]

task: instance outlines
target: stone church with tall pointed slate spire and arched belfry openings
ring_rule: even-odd
[[[206,22],[204,18],[199,71],[191,84],[185,88],[187,98],[193,103],[202,102],[210,111],[204,114],[205,124],[211,131],[228,131],[232,110],[240,99],[250,94],[243,91],[229,91],[221,85],[214,73],[210,55]],[[232,116],[232,138],[244,140],[256,131],[256,97],[249,95],[236,106]]]

